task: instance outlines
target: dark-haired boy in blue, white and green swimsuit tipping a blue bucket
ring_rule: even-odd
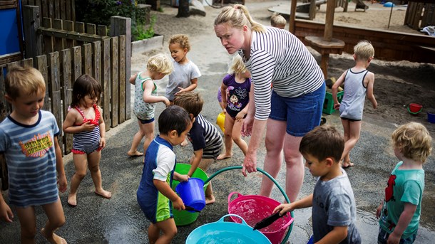
[[[170,106],[158,117],[160,135],[147,149],[137,198],[140,209],[151,221],[148,227],[150,243],[170,243],[177,233],[172,205],[177,210],[185,206],[180,196],[170,188],[172,180],[188,181],[188,175],[175,172],[173,146],[184,141],[192,128],[192,118],[179,106]],[[160,235],[162,230],[162,235]]]

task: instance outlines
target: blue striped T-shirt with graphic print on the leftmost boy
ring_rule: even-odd
[[[27,207],[58,199],[54,137],[59,134],[51,112],[39,111],[39,120],[26,125],[10,115],[0,124],[0,153],[9,169],[9,203]]]

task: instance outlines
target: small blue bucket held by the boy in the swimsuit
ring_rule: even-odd
[[[204,181],[199,178],[190,178],[188,181],[180,182],[175,188],[185,206],[196,210],[203,210],[205,207]],[[194,213],[194,211],[190,211]]]

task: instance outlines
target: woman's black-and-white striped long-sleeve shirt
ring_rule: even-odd
[[[252,75],[255,119],[267,120],[273,90],[281,97],[298,97],[314,92],[324,82],[323,73],[304,44],[292,33],[266,27],[252,31],[250,59],[239,51]]]

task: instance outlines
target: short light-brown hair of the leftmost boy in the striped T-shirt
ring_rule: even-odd
[[[39,91],[46,91],[44,77],[36,68],[14,65],[9,68],[4,84],[6,95],[16,97],[34,95]]]

